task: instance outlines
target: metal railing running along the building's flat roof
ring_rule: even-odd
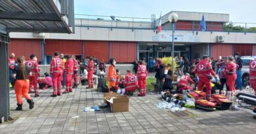
[[[109,27],[127,29],[153,29],[156,30],[158,20],[156,18],[135,18],[121,16],[98,16],[89,14],[75,14],[75,25],[84,27]],[[167,21],[161,19],[162,22]],[[178,20],[179,21],[179,20]],[[189,22],[189,21],[188,21]],[[200,21],[190,21],[191,24],[176,24],[176,30],[201,31]],[[171,25],[163,30],[170,30]],[[256,23],[242,22],[206,22],[206,31],[227,32],[256,32]]]

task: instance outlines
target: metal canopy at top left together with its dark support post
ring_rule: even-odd
[[[10,116],[9,32],[74,33],[74,0],[0,0],[0,123]]]

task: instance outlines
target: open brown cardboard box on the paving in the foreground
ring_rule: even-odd
[[[128,112],[129,111],[129,97],[127,95],[117,95],[110,103],[112,112]]]

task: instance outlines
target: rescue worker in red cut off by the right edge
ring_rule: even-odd
[[[253,88],[256,95],[256,59],[253,59],[249,63],[249,78],[251,88]]]

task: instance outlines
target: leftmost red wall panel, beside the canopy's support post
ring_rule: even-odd
[[[9,54],[14,53],[16,58],[25,56],[30,59],[31,54],[37,56],[37,61],[42,61],[42,40],[41,39],[11,39]]]

